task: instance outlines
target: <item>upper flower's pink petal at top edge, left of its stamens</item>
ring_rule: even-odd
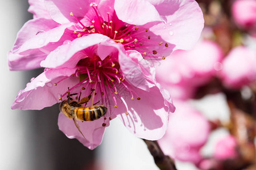
[[[92,7],[90,7],[92,2],[98,4],[100,1],[45,0],[44,4],[53,20],[57,23],[65,24],[69,22],[77,23],[75,18],[70,15],[70,12],[73,12],[77,18],[84,18],[92,10]]]

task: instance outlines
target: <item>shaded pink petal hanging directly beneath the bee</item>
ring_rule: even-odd
[[[103,117],[94,121],[77,121],[86,140],[76,128],[73,120],[65,117],[63,113],[59,114],[58,126],[68,138],[76,138],[84,146],[88,147],[90,150],[93,150],[101,144],[105,128],[109,126],[109,121],[109,119],[104,120]],[[102,126],[103,123],[106,124],[105,127]]]

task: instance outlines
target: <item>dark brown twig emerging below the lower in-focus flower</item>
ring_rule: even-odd
[[[160,168],[160,170],[177,170],[174,160],[169,156],[164,155],[157,141],[148,141],[146,139],[143,139],[143,141],[146,143],[150,154],[155,160],[155,164]]]

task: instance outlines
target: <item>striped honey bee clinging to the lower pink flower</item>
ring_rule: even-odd
[[[91,90],[92,92],[94,90]],[[75,101],[71,98],[72,95],[77,95],[77,94],[70,94],[68,93],[68,99],[61,101],[59,105],[60,112],[62,112],[66,117],[73,119],[76,128],[80,131],[82,134],[82,131],[79,128],[79,125],[77,124],[77,120],[80,121],[94,121],[97,120],[98,118],[101,118],[106,114],[108,111],[108,108],[106,108],[103,104],[101,105],[96,105],[97,103],[93,104],[90,107],[85,107],[90,98],[92,97],[92,92],[90,93],[89,96],[86,96],[80,100]],[[85,104],[84,107],[82,107],[82,104]],[[104,125],[104,124],[102,124]],[[84,134],[82,134],[84,137]],[[85,137],[84,137],[85,138]],[[85,138],[86,139],[86,138]]]

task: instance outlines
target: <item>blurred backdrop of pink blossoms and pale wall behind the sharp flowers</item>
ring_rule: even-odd
[[[197,2],[205,18],[201,39],[192,51],[177,51],[157,68],[177,108],[159,144],[177,169],[256,169],[256,1]],[[0,8],[0,169],[159,169],[144,142],[117,119],[91,151],[59,130],[58,105],[10,109],[19,90],[43,70],[9,71],[7,52],[32,14],[27,0],[1,1]]]

